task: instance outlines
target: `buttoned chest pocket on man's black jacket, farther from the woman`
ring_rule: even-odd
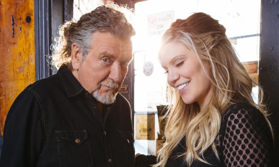
[[[60,167],[92,167],[93,160],[86,130],[55,131]]]

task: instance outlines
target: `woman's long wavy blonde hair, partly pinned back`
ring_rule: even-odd
[[[180,94],[169,86],[171,107],[165,115],[166,141],[154,167],[164,167],[171,152],[184,137],[187,149],[180,156],[184,157],[188,166],[196,160],[209,164],[203,158],[203,153],[209,148],[219,158],[214,142],[220,130],[221,115],[232,104],[246,102],[255,106],[269,123],[263,104],[263,90],[248,76],[225,32],[218,20],[204,13],[195,13],[187,19],[178,19],[164,33],[162,47],[169,42],[181,42],[196,53],[213,85],[213,94],[205,109],[200,110],[197,102],[186,105]],[[258,105],[251,96],[252,83],[259,86]],[[272,132],[270,123],[269,126]]]

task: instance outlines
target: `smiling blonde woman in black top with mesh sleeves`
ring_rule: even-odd
[[[159,58],[172,104],[166,114],[166,141],[154,167],[270,165],[273,133],[262,89],[255,104],[251,91],[257,83],[225,32],[210,15],[195,13],[164,33]],[[139,155],[136,165],[145,159]]]

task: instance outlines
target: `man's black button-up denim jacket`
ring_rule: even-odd
[[[66,66],[29,85],[4,127],[0,167],[132,167],[129,102],[118,93],[101,116]]]

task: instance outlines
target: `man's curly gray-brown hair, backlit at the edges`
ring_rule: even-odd
[[[67,21],[59,27],[59,37],[55,38],[55,45],[51,47],[52,65],[59,68],[67,64],[71,70],[71,45],[76,43],[81,48],[84,59],[92,45],[92,34],[96,31],[110,32],[115,38],[123,41],[131,39],[135,31],[126,17],[132,13],[127,6],[107,3],[82,15],[76,23]]]

